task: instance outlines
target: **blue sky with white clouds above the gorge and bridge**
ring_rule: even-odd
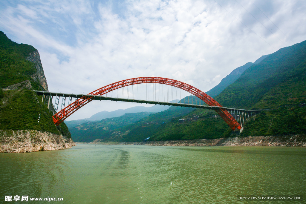
[[[49,91],[158,76],[204,92],[233,69],[306,40],[305,0],[0,2],[0,30],[40,54]],[[67,120],[134,103],[93,101]]]

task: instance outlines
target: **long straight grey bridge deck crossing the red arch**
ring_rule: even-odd
[[[48,91],[35,91],[35,92],[37,95],[69,97],[69,98],[81,98],[83,96],[88,96],[88,97],[93,97],[94,100],[100,100],[100,101],[121,101],[121,102],[132,102],[132,103],[157,104],[157,105],[165,105],[165,106],[184,106],[184,107],[191,107],[191,108],[211,109],[211,110],[220,108],[219,106],[205,106],[205,105],[195,105],[195,104],[188,104],[188,103],[146,101],[146,100],[138,100],[138,99],[114,98],[114,97],[87,95],[87,94],[65,94],[65,93],[56,93],[56,92],[48,92]],[[49,108],[49,104],[48,104],[48,108]],[[267,110],[267,109],[249,110],[249,109],[238,109],[238,108],[228,108],[228,107],[222,107],[222,108],[225,108],[228,110],[238,110],[238,111],[248,111],[248,112],[258,112],[258,111]]]

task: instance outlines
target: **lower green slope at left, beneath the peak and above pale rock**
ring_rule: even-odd
[[[0,129],[38,130],[71,137],[64,123],[58,128],[53,124],[47,104],[43,104],[41,97],[39,98],[35,92],[31,90],[2,92],[4,97],[0,99]]]

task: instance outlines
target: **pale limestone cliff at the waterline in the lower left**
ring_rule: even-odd
[[[37,152],[76,146],[71,138],[36,130],[0,130],[0,152]]]

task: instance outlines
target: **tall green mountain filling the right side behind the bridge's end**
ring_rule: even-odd
[[[306,132],[306,41],[251,66],[216,100],[224,106],[270,109],[245,124],[241,136]]]

